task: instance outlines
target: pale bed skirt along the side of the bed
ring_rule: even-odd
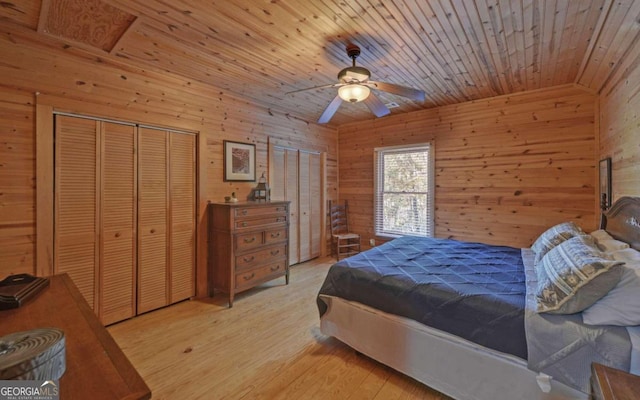
[[[413,320],[320,295],[320,330],[353,349],[458,400],[588,399],[525,360]]]

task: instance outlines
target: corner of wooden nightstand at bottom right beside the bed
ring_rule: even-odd
[[[602,364],[591,364],[591,386],[596,400],[640,398],[640,376]]]

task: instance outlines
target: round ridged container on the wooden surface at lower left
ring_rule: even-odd
[[[60,329],[36,328],[0,337],[0,380],[58,380],[65,369]]]

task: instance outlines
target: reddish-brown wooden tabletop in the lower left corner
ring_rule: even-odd
[[[34,328],[65,334],[60,399],[149,399],[151,390],[66,275],[19,308],[0,311],[0,336]]]

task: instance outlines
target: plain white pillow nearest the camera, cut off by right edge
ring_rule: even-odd
[[[603,298],[582,312],[588,325],[640,325],[640,252],[626,248],[610,252],[624,261],[620,282]]]

